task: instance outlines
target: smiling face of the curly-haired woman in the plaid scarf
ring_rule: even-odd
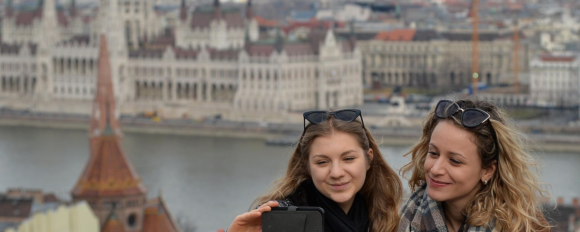
[[[495,165],[482,168],[473,133],[448,120],[438,122],[428,152],[425,181],[435,201],[465,205],[495,171]]]

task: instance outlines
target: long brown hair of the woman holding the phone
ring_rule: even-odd
[[[397,173],[387,164],[379,147],[368,129],[361,121],[342,122],[331,116],[322,124],[309,124],[302,132],[298,144],[288,162],[284,176],[274,182],[274,187],[266,194],[256,198],[252,205],[261,205],[271,200],[284,200],[294,193],[305,180],[311,180],[308,154],[314,139],[343,132],[353,136],[358,144],[367,151],[373,151],[372,160],[366,157],[370,168],[362,188],[358,193],[367,201],[371,231],[396,231],[398,225],[398,205],[403,195],[403,184]],[[366,153],[365,153],[366,155]]]

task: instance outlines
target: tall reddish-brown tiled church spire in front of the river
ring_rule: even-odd
[[[121,130],[114,109],[107,37],[101,35],[97,92],[89,125],[90,156],[71,191],[75,201],[146,194],[139,175],[121,146]]]

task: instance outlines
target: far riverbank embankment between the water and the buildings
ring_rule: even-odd
[[[233,137],[278,141],[291,144],[300,135],[302,125],[260,125],[242,122],[153,122],[150,119],[121,119],[125,133],[149,133],[159,135]],[[89,118],[70,117],[0,117],[0,126],[31,126],[37,128],[57,128],[84,130]],[[420,135],[420,129],[371,129],[375,140],[382,146],[412,146]],[[545,152],[580,153],[579,135],[533,134],[530,144],[534,150]]]

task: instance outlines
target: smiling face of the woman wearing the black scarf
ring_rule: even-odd
[[[354,195],[362,188],[372,159],[347,133],[335,132],[313,140],[308,155],[309,171],[316,189],[348,212]]]

